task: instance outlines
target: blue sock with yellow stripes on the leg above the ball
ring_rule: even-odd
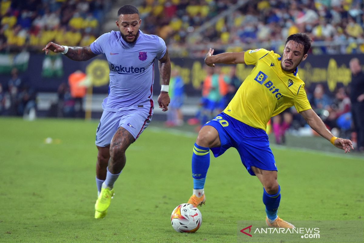
[[[193,189],[203,189],[210,166],[210,149],[195,143],[192,154]]]

